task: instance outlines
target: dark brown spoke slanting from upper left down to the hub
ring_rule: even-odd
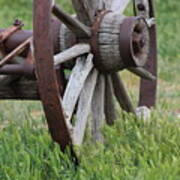
[[[59,18],[72,32],[78,37],[90,37],[91,30],[89,27],[82,24],[79,20],[73,18],[69,14],[65,13],[62,9],[56,5],[52,8],[53,14]]]

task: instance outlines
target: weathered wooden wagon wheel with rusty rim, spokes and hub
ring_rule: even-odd
[[[93,137],[102,140],[99,130],[103,121],[112,124],[115,119],[114,95],[123,110],[135,113],[117,73],[120,70],[128,69],[141,77],[139,105],[155,105],[153,4],[151,0],[133,2],[135,16],[127,17],[122,14],[132,3],[130,0],[72,0],[77,13],[77,18],[73,18],[52,0],[34,0],[34,55],[39,91],[52,138],[62,150],[83,142],[91,111]],[[54,57],[52,13],[73,32],[77,41]],[[67,61],[75,61],[75,66],[64,96],[60,97],[55,66]]]

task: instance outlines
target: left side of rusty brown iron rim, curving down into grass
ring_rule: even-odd
[[[39,93],[51,136],[64,151],[67,145],[72,145],[72,139],[63,114],[53,63],[50,26],[52,0],[34,0],[33,10],[34,55]]]

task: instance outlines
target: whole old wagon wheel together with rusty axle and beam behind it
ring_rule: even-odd
[[[155,105],[151,0],[134,0],[131,17],[124,13],[130,0],[72,0],[76,16],[52,0],[33,2],[33,31],[23,31],[19,21],[0,30],[0,99],[41,100],[62,150],[82,144],[89,115],[92,138],[103,141],[101,127],[116,119],[115,100],[136,115],[118,71],[141,78],[139,106]]]

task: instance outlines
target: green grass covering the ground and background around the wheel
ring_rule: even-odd
[[[104,127],[104,145],[86,143],[81,164],[74,167],[52,143],[41,105],[0,102],[1,180],[179,180],[180,179],[180,23],[179,0],[156,0],[159,88],[151,120],[119,114],[113,127]],[[70,1],[59,0],[69,12]],[[0,0],[0,22],[8,27],[22,19],[32,27],[31,1]],[[133,77],[128,87],[136,90]]]

